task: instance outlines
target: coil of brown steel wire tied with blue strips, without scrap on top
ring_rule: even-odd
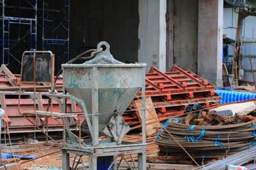
[[[256,120],[230,125],[186,125],[180,118],[166,122],[165,128],[195,158],[218,158],[255,145]],[[165,130],[156,137],[160,153],[188,157]]]

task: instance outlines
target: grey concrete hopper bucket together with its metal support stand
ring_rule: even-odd
[[[104,46],[106,49],[103,50]],[[117,156],[127,162],[124,155],[138,154],[138,169],[145,170],[146,65],[124,64],[115,60],[109,52],[109,48],[109,44],[102,41],[97,45],[97,55],[88,61],[90,64],[63,64],[61,66],[63,87],[70,95],[81,99],[84,103],[82,109],[87,122],[87,125],[83,123],[84,132],[88,132],[92,125],[92,131],[90,131],[92,139],[84,140],[83,145],[81,143],[80,145],[79,143],[65,143],[62,150],[63,153],[87,155],[88,166],[92,170],[113,169]],[[132,74],[137,74],[137,80],[134,80]],[[123,141],[123,136],[130,127],[122,119],[122,113],[140,90],[142,142]],[[99,140],[99,135],[109,137]],[[64,140],[66,141],[66,139]],[[102,157],[104,158],[102,159]],[[63,160],[63,162],[65,161]]]

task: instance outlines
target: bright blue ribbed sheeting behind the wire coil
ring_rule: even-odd
[[[215,92],[221,96],[220,103],[232,103],[236,101],[256,99],[256,93],[252,92],[237,92],[232,90],[215,90]]]

